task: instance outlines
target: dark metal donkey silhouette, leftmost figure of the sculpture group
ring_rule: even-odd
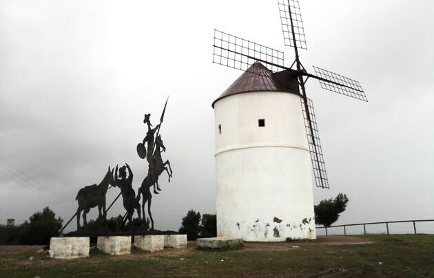
[[[109,184],[114,186],[113,171],[114,169],[110,171],[109,166],[103,180],[101,180],[98,185],[92,184],[85,186],[77,193],[75,200],[79,202],[79,208],[77,208],[76,215],[74,215],[77,217],[77,229],[81,228],[81,211],[83,211],[83,225],[86,225],[86,214],[90,211],[90,208],[94,208],[95,206],[98,206],[99,218],[101,219],[101,217],[103,217],[104,220],[106,219],[107,212],[105,211],[105,194],[107,193],[107,189],[109,189]],[[65,226],[63,228],[65,228]]]

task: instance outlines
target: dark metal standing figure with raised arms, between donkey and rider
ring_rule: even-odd
[[[128,178],[127,178],[128,170]],[[124,218],[122,226],[129,220],[132,222],[134,215],[134,209],[137,211],[138,219],[141,220],[140,202],[136,199],[136,191],[132,188],[133,173],[130,165],[125,163],[125,166],[121,167],[118,171],[118,165],[114,170],[114,186],[118,186],[121,189],[123,207],[127,211],[127,216]]]

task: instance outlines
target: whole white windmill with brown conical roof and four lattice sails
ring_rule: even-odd
[[[245,70],[212,104],[218,236],[316,238],[311,165],[316,186],[329,185],[304,84],[316,78],[324,89],[367,101],[357,81],[304,69],[297,48],[306,49],[298,1],[278,4],[285,45],[296,53],[291,67],[284,66],[283,52],[214,31],[214,63]]]

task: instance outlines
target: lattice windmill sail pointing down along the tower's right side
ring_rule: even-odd
[[[309,151],[311,153],[311,161],[313,167],[313,175],[315,177],[315,184],[317,187],[329,189],[329,180],[324,164],[324,157],[322,156],[322,148],[320,143],[320,136],[318,134],[318,126],[316,125],[315,112],[313,111],[313,102],[310,98],[307,99],[307,107],[309,107],[309,118],[304,106],[304,98],[301,99],[301,106],[304,117],[304,127],[306,128],[307,142],[309,143]],[[311,122],[312,129],[309,126]],[[313,131],[313,134],[311,133]]]

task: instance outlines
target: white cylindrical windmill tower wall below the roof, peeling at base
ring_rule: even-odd
[[[266,242],[316,238],[300,96],[236,94],[218,100],[214,115],[218,236]],[[260,118],[265,127],[258,127]]]

